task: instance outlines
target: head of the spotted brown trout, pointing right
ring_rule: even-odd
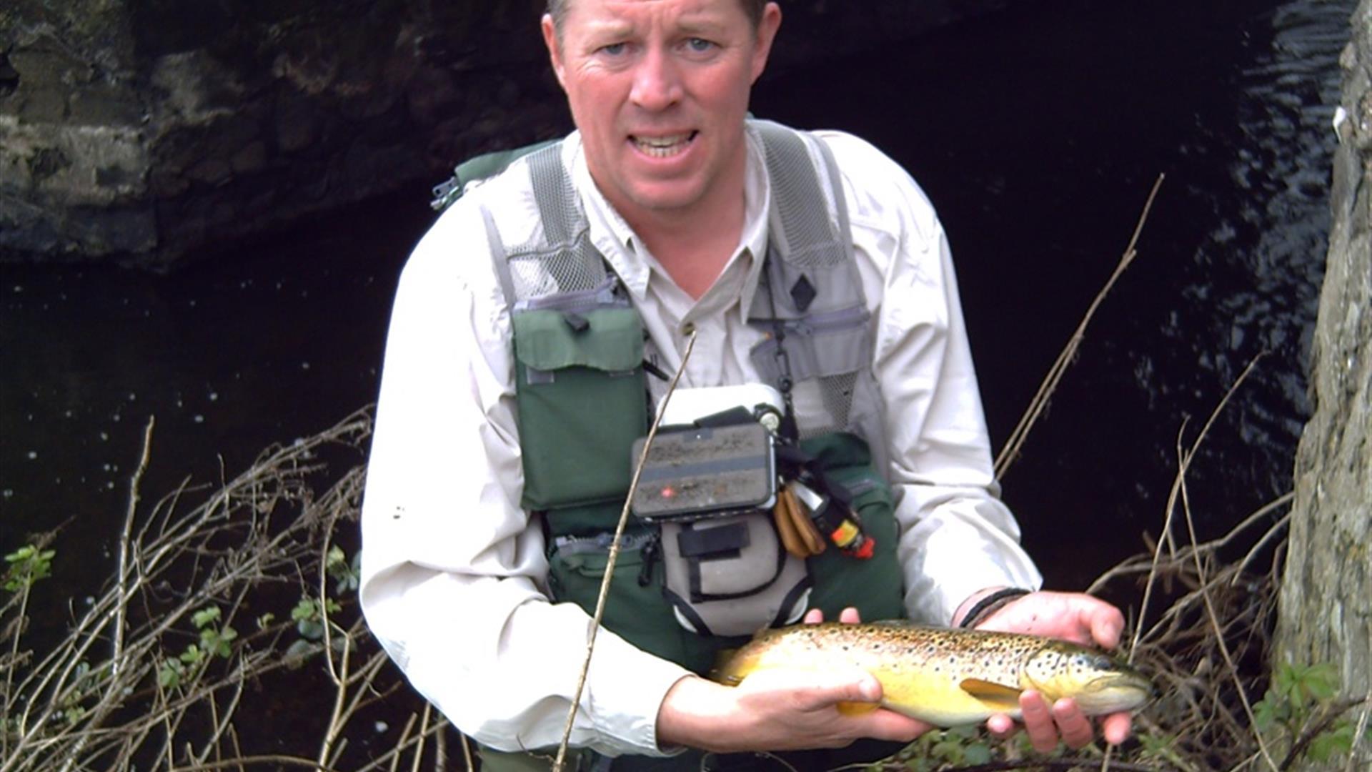
[[[1070,696],[1087,716],[1133,710],[1155,691],[1147,676],[1124,661],[1059,642],[1030,655],[1024,676],[1050,702]]]

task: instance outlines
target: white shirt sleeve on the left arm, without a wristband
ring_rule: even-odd
[[[499,750],[556,747],[590,617],[552,603],[541,529],[520,508],[509,316],[477,206],[406,264],[387,338],[362,506],[361,602],[410,683]],[[600,631],[573,746],[663,754],[656,716],[687,672]]]

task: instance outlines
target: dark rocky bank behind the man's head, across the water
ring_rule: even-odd
[[[783,3],[788,60],[1008,0]],[[568,128],[543,0],[5,0],[0,260],[189,250]]]

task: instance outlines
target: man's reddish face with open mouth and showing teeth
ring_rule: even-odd
[[[591,177],[630,223],[742,195],[744,114],[781,11],[738,0],[572,0],[543,18]],[[741,201],[741,199],[740,199]]]

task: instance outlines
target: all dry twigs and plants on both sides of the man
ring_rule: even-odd
[[[332,543],[355,530],[369,431],[370,416],[358,413],[270,449],[215,490],[181,489],[145,512],[132,496],[122,533],[111,534],[121,540],[121,569],[70,615],[64,637],[26,637],[27,617],[59,611],[51,602],[33,606],[43,580],[18,582],[0,606],[0,772],[461,768],[465,743],[403,685],[361,625],[353,567]],[[325,459],[347,471],[331,474]],[[192,496],[203,503],[187,507]],[[1181,478],[1174,499],[1181,519],[1158,549],[1092,588],[1132,596],[1139,607],[1151,587],[1147,602],[1158,607],[1144,610],[1132,655],[1155,674],[1162,696],[1109,764],[1269,768],[1250,710],[1268,680],[1273,547],[1288,500],[1221,540],[1195,544],[1183,522]],[[49,548],[62,555],[64,537]],[[22,578],[19,565],[11,563],[11,578]],[[60,570],[60,559],[54,566]],[[1310,725],[1318,720],[1312,714]],[[1292,743],[1273,738],[1266,754],[1280,768]],[[926,740],[911,749],[926,761],[901,767],[1106,764],[1091,753],[1034,757],[1014,742],[991,745],[988,760],[967,753],[984,742],[944,738],[933,750]]]

